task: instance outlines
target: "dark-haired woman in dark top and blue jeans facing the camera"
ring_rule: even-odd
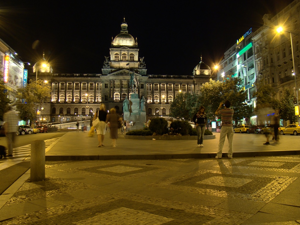
[[[198,147],[204,147],[203,136],[204,136],[205,126],[207,122],[206,113],[204,111],[205,108],[203,106],[200,106],[199,111],[193,116],[193,122],[196,125],[196,131],[198,134],[198,138],[197,138]]]

